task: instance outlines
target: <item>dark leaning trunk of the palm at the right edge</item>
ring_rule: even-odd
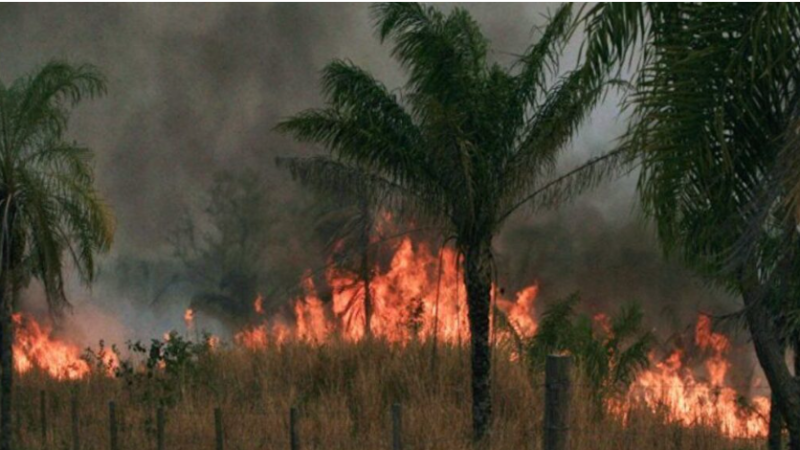
[[[756,283],[744,283],[742,298],[747,311],[747,325],[764,375],[773,392],[778,410],[789,430],[789,448],[800,450],[800,384],[786,364],[770,311],[759,295]]]

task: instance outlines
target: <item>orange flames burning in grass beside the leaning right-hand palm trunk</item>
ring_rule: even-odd
[[[736,390],[726,386],[731,367],[726,355],[731,343],[726,336],[712,331],[711,320],[706,316],[697,321],[695,344],[700,350],[711,352],[704,362],[708,381],[699,379],[686,367],[683,350],[674,350],[652,369],[639,374],[625,398],[610,405],[612,411],[625,417],[630,408],[643,405],[663,411],[670,422],[714,426],[736,438],[766,436],[770,401],[756,396],[749,405],[743,405]]]

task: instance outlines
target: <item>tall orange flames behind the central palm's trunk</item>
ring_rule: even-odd
[[[303,295],[293,303],[294,318],[289,320],[293,325],[265,320],[239,332],[235,340],[249,348],[262,348],[287,339],[322,343],[334,333],[347,341],[361,340],[367,334],[393,343],[434,337],[448,343],[469,339],[466,290],[455,250],[444,248],[441,255],[434,254],[427,245],[405,238],[388,268],[373,273],[369,283],[369,330],[364,282],[351,272],[331,268],[325,274],[332,289],[330,305],[320,299],[307,276]],[[497,307],[523,337],[536,331],[537,293],[537,286],[532,285],[518,292],[513,301],[497,298]],[[254,302],[256,313],[262,314],[262,305],[263,298],[259,296]]]

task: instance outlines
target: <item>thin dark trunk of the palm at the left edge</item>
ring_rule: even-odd
[[[0,276],[0,450],[11,450],[11,391],[14,383],[14,321],[8,277]]]

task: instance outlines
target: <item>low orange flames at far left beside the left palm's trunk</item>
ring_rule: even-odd
[[[76,380],[91,372],[89,363],[81,357],[80,348],[54,339],[49,327],[23,313],[14,314],[13,320],[16,327],[14,368],[18,373],[37,367],[53,378]],[[114,353],[104,352],[101,357],[109,370],[117,366]]]

